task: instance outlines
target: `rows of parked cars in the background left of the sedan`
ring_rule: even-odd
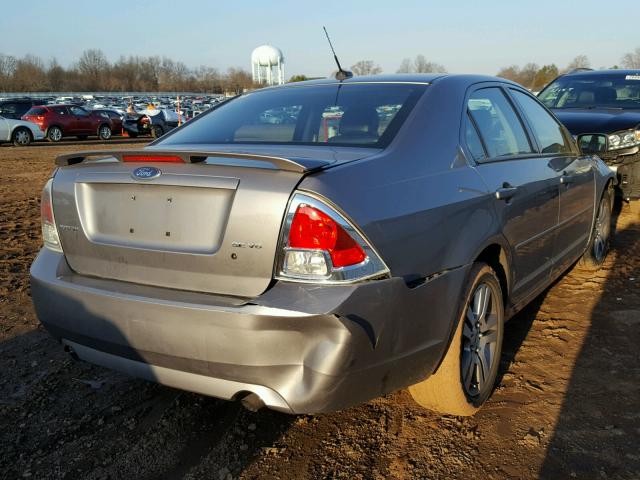
[[[190,99],[184,101],[188,107],[158,98],[128,97],[122,98],[120,103],[112,99],[104,103],[99,100],[61,97],[0,101],[0,143],[27,146],[45,138],[59,142],[64,137],[86,139],[89,136],[109,140],[113,135],[125,133],[134,138],[141,135],[157,138],[219,103],[222,98]],[[71,103],[60,103],[62,101]],[[126,101],[130,102],[128,105],[133,107],[133,112],[122,104]]]

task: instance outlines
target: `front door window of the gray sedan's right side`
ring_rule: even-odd
[[[529,120],[541,153],[571,153],[571,146],[562,133],[562,127],[537,100],[519,90],[512,89],[511,94]]]

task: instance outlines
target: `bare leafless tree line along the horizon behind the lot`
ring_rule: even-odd
[[[640,69],[640,47],[626,53],[621,59],[624,68]],[[555,64],[539,66],[527,63],[511,65],[498,71],[497,76],[513,80],[537,91],[559,74],[575,68],[588,68],[589,59],[578,55],[569,65],[560,69]],[[611,68],[619,68],[614,65]],[[376,75],[382,68],[373,60],[360,60],[351,66],[355,75]],[[405,58],[396,73],[446,73],[446,68],[424,55]],[[305,75],[294,75],[289,81],[306,80]],[[45,63],[34,55],[16,58],[0,54],[0,92],[241,92],[255,88],[251,73],[241,67],[230,67],[225,72],[200,66],[189,68],[184,63],[159,56],[121,56],[109,62],[99,49],[85,50],[77,62],[65,68],[56,59]]]

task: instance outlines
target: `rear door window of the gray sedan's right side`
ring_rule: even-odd
[[[467,108],[490,158],[534,153],[522,122],[502,89],[476,90]]]

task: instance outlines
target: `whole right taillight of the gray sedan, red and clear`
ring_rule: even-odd
[[[364,235],[326,202],[294,195],[282,233],[278,278],[345,283],[388,275]]]

